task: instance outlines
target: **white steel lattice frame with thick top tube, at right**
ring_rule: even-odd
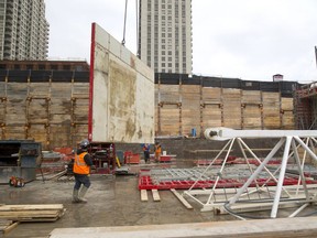
[[[274,194],[274,201],[272,203],[271,215],[270,215],[271,218],[276,218],[277,212],[278,212],[278,206],[284,203],[284,199],[283,199],[283,202],[281,201],[282,191],[288,195],[289,199],[292,199],[292,201],[296,199],[296,197],[294,197],[294,196],[292,197],[292,195],[288,193],[287,187],[283,186],[287,161],[293,155],[294,155],[295,162],[298,166],[298,174],[299,174],[298,184],[296,185],[297,186],[296,195],[298,195],[298,193],[299,193],[300,181],[302,181],[302,186],[304,190],[304,194],[305,194],[304,197],[305,198],[304,198],[304,202],[303,202],[303,199],[300,201],[300,203],[303,203],[303,205],[298,209],[296,209],[293,214],[291,214],[289,217],[294,217],[294,216],[298,215],[305,207],[307,207],[309,204],[311,204],[311,202],[315,202],[315,203],[317,202],[316,193],[313,196],[310,196],[308,193],[308,187],[307,187],[307,184],[305,181],[305,175],[304,175],[304,170],[303,170],[304,165],[305,165],[305,160],[306,160],[307,153],[315,161],[317,161],[317,156],[314,152],[315,151],[314,143],[317,143],[317,140],[315,139],[315,138],[317,138],[317,130],[308,130],[308,131],[285,130],[285,131],[283,131],[283,130],[232,130],[232,129],[226,129],[226,128],[214,128],[214,129],[209,128],[205,131],[205,137],[209,140],[229,140],[229,141],[220,150],[220,152],[216,155],[216,158],[211,161],[211,163],[206,167],[206,170],[201,173],[201,177],[210,169],[210,166],[212,166],[214,162],[219,158],[219,155],[222,154],[222,152],[227,148],[229,148],[229,149],[228,149],[228,152],[223,159],[220,171],[217,175],[216,183],[214,184],[211,190],[194,191],[193,190],[195,187],[195,183],[194,183],[193,186],[188,191],[185,191],[183,193],[184,197],[189,197],[189,198],[194,199],[195,202],[197,202],[198,204],[200,204],[203,206],[201,212],[219,209],[219,207],[221,207],[221,208],[225,208],[225,210],[230,213],[230,209],[228,209],[228,206],[232,207],[234,204],[237,204],[239,198],[241,198],[242,196],[245,196],[245,195],[249,196],[250,193],[263,192],[264,185],[262,185],[261,187],[259,185],[256,185],[256,187],[252,188],[251,192],[248,191],[248,188],[253,181],[256,183],[256,177],[259,176],[259,174],[263,170],[265,170],[266,173],[269,173],[269,175],[270,175],[270,178],[267,178],[266,183],[270,180],[274,180],[277,183],[276,191]],[[267,138],[267,139],[280,138],[280,141],[275,144],[275,147],[271,150],[271,152],[266,155],[266,158],[263,161],[261,161],[255,155],[255,153],[247,145],[247,143],[242,140],[242,138]],[[226,166],[226,163],[227,163],[228,156],[230,154],[231,148],[236,141],[238,142],[239,148],[241,149],[241,152],[242,152],[247,163],[248,163],[248,159],[247,159],[247,154],[245,154],[243,148],[247,149],[247,151],[250,152],[250,154],[256,161],[260,162],[260,165],[258,166],[258,169],[255,171],[252,171],[251,166],[249,166],[252,175],[248,178],[248,181],[244,183],[243,186],[241,186],[240,188],[237,190],[237,193],[233,196],[231,196],[227,201],[221,201],[221,203],[220,202],[214,203],[211,199],[212,198],[216,199],[216,197],[215,197],[216,192],[219,191],[219,188],[216,190],[217,183],[221,176],[221,172],[222,172],[223,167]],[[306,143],[304,141],[306,141]],[[296,145],[296,142],[297,142],[297,145]],[[270,170],[266,167],[266,164],[269,163],[270,160],[272,160],[272,158],[276,154],[276,152],[280,149],[282,149],[283,144],[284,144],[284,151],[283,151],[283,158],[281,161],[281,165],[280,165],[280,167],[276,169],[276,171],[274,173],[271,173]],[[308,147],[308,144],[310,145],[311,150]],[[298,148],[304,149],[304,155],[303,155],[302,163],[300,163],[299,155],[298,155]],[[248,163],[248,165],[249,165],[249,163]],[[277,173],[278,171],[280,171],[280,175],[278,175],[278,177],[276,177],[275,173]],[[199,181],[199,178],[197,181]],[[292,186],[292,187],[294,188],[294,186]],[[203,201],[200,201],[197,197],[197,195],[209,195],[209,196],[208,196],[207,202],[204,203]],[[226,204],[226,206],[223,206],[225,204]],[[237,217],[243,219],[243,217],[240,217],[240,216],[237,216]]]

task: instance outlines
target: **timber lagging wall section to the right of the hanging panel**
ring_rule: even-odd
[[[210,127],[294,129],[295,82],[248,82],[236,78],[156,74],[157,136],[198,137]]]

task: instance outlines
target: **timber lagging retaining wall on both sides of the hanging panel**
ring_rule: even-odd
[[[291,83],[187,75],[155,80],[157,137],[190,136],[193,129],[199,137],[209,127],[294,129]],[[44,150],[75,147],[88,134],[88,96],[89,72],[0,71],[0,139],[34,139]]]

